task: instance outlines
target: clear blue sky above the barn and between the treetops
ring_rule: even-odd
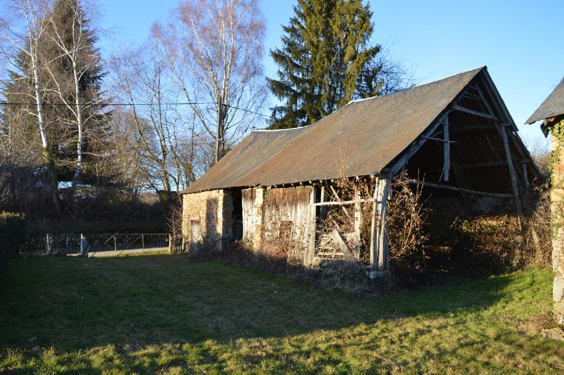
[[[295,1],[262,2],[268,23],[265,47],[280,47]],[[178,1],[100,0],[102,26],[114,28],[103,49],[147,38],[155,20],[165,21]],[[526,139],[539,126],[522,125],[564,76],[564,0],[371,1],[373,43],[389,46],[413,68],[417,83],[487,65],[493,82]],[[265,54],[265,73],[276,65]],[[268,114],[268,109],[265,109]]]

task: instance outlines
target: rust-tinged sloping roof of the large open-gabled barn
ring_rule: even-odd
[[[309,126],[253,131],[182,193],[380,173],[483,69],[356,100]]]

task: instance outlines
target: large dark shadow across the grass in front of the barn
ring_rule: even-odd
[[[0,279],[0,345],[195,343],[466,314],[503,297],[510,277],[358,299],[185,255],[16,259]]]

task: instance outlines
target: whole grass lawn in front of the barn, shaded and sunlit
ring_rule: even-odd
[[[0,369],[562,374],[564,342],[539,334],[551,277],[358,299],[183,255],[15,259],[0,279]]]

